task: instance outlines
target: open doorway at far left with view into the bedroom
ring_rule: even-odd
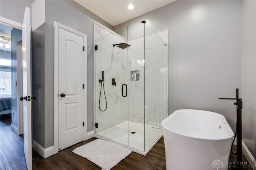
[[[23,148],[22,31],[0,23],[0,123],[1,165],[15,168],[26,165]],[[19,163],[18,163],[19,162]]]

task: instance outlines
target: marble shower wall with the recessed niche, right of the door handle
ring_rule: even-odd
[[[129,34],[132,32],[130,31]],[[160,127],[162,120],[166,117],[167,37],[168,30],[164,30],[145,36],[145,45],[144,37],[128,41],[131,45],[129,47],[128,72],[129,74],[131,71],[140,72],[140,80],[128,80],[129,121],[142,124],[145,121],[146,125]]]

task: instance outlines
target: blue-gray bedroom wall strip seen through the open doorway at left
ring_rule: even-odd
[[[17,40],[22,36],[22,31],[18,29],[12,29],[11,31],[11,59],[12,59],[12,124],[14,126],[18,126],[18,117],[17,117],[17,97],[18,96],[18,89],[15,82],[18,79],[17,74]]]

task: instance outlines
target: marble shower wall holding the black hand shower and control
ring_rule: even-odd
[[[126,42],[124,38],[98,24],[94,24],[94,29],[95,45],[98,45],[94,60],[95,114],[96,123],[98,123],[96,134],[98,134],[103,130],[128,121],[128,97],[122,97],[122,85],[127,84],[128,53],[127,49],[113,47],[112,45],[113,43]],[[107,109],[104,112],[99,110],[99,100],[101,110],[106,108],[103,87],[100,98],[101,83],[99,83],[99,79],[102,79],[102,71],[104,71],[104,89],[107,100]],[[116,79],[116,86],[112,85],[112,78]]]

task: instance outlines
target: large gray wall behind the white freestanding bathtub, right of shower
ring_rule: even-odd
[[[236,125],[233,101],[241,87],[241,1],[176,1],[114,27],[145,20],[169,30],[168,113],[202,109]]]

